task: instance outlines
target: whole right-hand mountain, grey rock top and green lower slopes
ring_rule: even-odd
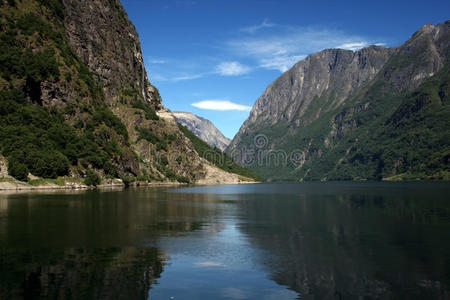
[[[270,84],[226,152],[273,180],[450,179],[450,22],[327,49]]]

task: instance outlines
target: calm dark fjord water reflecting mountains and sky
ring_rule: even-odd
[[[450,184],[0,194],[0,299],[450,299]]]

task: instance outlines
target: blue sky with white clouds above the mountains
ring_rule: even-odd
[[[232,138],[264,89],[325,48],[397,46],[450,1],[122,0],[163,104]]]

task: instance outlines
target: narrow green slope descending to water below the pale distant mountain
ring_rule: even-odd
[[[200,155],[200,157],[203,157],[204,159],[208,160],[215,166],[219,167],[220,169],[235,173],[238,175],[242,175],[247,178],[252,178],[256,181],[261,180],[259,175],[256,173],[250,171],[249,169],[243,168],[233,162],[233,160],[228,157],[225,153],[220,151],[219,149],[213,149],[211,146],[209,146],[207,143],[199,139],[195,134],[193,134],[189,129],[184,127],[181,124],[178,124],[178,127],[180,128],[181,132],[192,142],[194,145],[195,151]]]

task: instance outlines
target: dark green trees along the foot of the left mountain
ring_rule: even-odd
[[[109,127],[99,129],[105,123]],[[86,167],[90,164],[117,176],[111,158],[121,154],[121,147],[114,136],[128,137],[123,124],[105,109],[89,123],[89,130],[80,134],[60,114],[28,105],[18,90],[0,91],[0,127],[1,153],[24,163],[33,175],[45,178],[68,175],[69,165],[77,165],[80,160]]]

